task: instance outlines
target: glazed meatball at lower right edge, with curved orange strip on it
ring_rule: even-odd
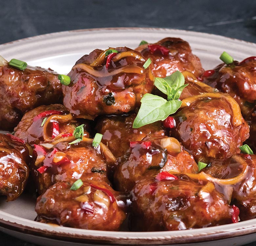
[[[239,208],[239,217],[256,218],[256,155],[235,154],[212,161],[203,171],[219,179],[234,179],[231,184],[226,183],[233,188],[232,203]]]

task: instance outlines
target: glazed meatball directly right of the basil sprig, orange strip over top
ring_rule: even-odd
[[[239,105],[228,94],[204,93],[182,101],[173,115],[176,137],[195,160],[208,163],[240,153],[249,137],[249,127]]]

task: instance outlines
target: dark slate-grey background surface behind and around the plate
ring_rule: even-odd
[[[103,27],[184,29],[256,43],[255,0],[1,0],[0,20],[0,44],[49,32]],[[34,246],[3,233],[0,245]]]

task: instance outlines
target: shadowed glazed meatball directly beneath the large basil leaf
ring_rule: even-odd
[[[104,116],[98,120],[96,130],[103,134],[102,143],[108,146],[116,158],[124,155],[130,148],[130,141],[141,141],[147,134],[162,129],[161,122],[133,128],[136,114]]]

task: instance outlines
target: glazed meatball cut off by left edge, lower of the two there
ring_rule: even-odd
[[[0,195],[15,200],[23,192],[29,176],[29,151],[25,143],[0,133]]]

